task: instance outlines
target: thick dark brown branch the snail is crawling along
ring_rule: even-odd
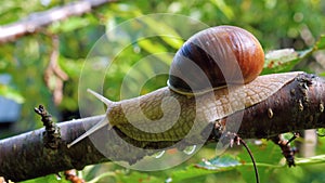
[[[232,122],[242,121],[238,131],[242,139],[270,139],[284,132],[324,128],[324,101],[325,80],[314,75],[301,74],[265,101],[246,108],[243,120],[238,118],[237,112],[217,123],[222,126],[221,129],[232,131]],[[82,169],[87,165],[108,161],[112,158],[133,164],[161,148],[179,147],[173,146],[177,142],[135,141],[116,128],[110,130],[103,128],[90,136],[101,140],[103,143],[101,147],[104,147],[102,152],[105,152],[106,156],[101,154],[90,139],[72,148],[66,147],[67,143],[81,135],[84,129],[89,129],[103,117],[95,116],[58,123],[61,144],[57,149],[44,146],[43,128],[1,140],[0,175],[12,181],[23,181],[73,168]],[[211,133],[208,142],[213,142],[216,131],[211,132],[210,128],[205,132]],[[186,142],[188,145],[203,143],[200,139],[191,138]],[[134,146],[142,148],[134,149],[132,148]]]

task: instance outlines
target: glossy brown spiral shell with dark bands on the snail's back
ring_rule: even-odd
[[[177,52],[168,86],[182,94],[203,93],[250,82],[263,65],[263,49],[249,31],[234,26],[211,27],[191,37]]]

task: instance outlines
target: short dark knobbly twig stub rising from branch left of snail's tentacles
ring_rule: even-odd
[[[50,147],[53,149],[58,148],[61,142],[61,133],[60,128],[52,120],[52,116],[48,114],[46,108],[42,105],[39,105],[38,108],[34,109],[38,115],[42,117],[43,126],[46,127],[46,131],[43,133],[43,141],[46,147]]]

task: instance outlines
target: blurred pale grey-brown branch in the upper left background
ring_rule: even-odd
[[[92,9],[108,2],[116,2],[116,0],[81,0],[48,11],[32,13],[20,22],[0,26],[0,43],[14,41],[22,36],[35,34],[54,22],[88,13]]]

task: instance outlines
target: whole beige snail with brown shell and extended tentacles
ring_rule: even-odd
[[[105,117],[67,146],[107,125],[138,141],[180,141],[190,131],[199,134],[209,122],[264,101],[299,74],[259,76],[263,64],[262,47],[247,30],[202,30],[176,53],[167,87],[119,102],[88,90],[107,105]]]

